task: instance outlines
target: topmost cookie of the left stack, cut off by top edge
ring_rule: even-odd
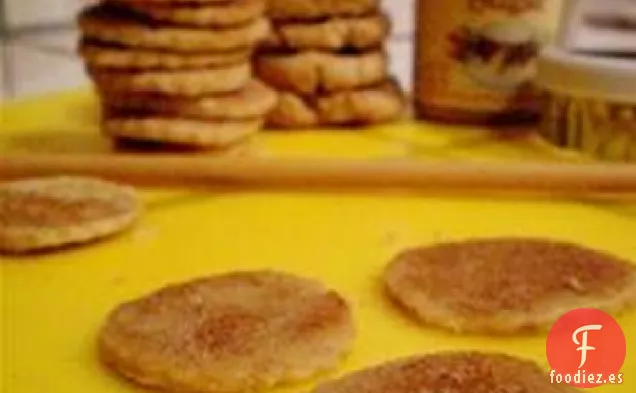
[[[125,1],[126,7],[157,22],[194,27],[231,27],[265,14],[265,0],[232,0],[198,4],[160,1]]]

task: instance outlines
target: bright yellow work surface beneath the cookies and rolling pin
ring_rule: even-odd
[[[514,134],[513,134],[514,135]],[[264,135],[264,154],[563,159],[532,137],[482,129],[404,124],[373,131]],[[6,105],[4,152],[109,151],[97,111],[80,91]],[[573,158],[575,159],[575,158]],[[132,231],[53,255],[2,259],[2,383],[11,393],[138,391],[102,369],[96,332],[118,303],[165,284],[235,269],[272,268],[319,278],[355,308],[357,345],[338,373],[440,349],[506,351],[545,361],[545,337],[456,336],[411,322],[383,297],[378,279],[404,248],[440,240],[544,236],[636,260],[636,203],[478,198],[409,192],[147,191]],[[636,391],[636,312],[620,317],[628,340],[625,384]],[[305,392],[316,381],[288,388]]]

